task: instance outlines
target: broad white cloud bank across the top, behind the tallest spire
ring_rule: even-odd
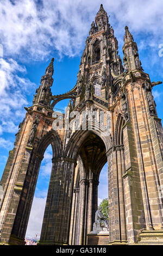
[[[57,1],[34,0],[0,3],[0,35],[4,55],[12,56],[25,51],[28,59],[43,59],[53,50],[60,55],[76,56],[83,49],[92,20],[100,7],[101,0]],[[116,29],[122,43],[124,26],[137,33],[152,33],[152,44],[162,39],[161,0],[130,0],[104,2],[104,9],[110,15],[110,23]],[[151,40],[144,43],[151,44]],[[21,58],[23,54],[21,55]]]

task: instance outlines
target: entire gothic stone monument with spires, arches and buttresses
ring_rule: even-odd
[[[153,86],[161,82],[151,82],[143,71],[128,27],[123,54],[122,65],[101,5],[70,92],[52,95],[52,59],[33,105],[26,107],[2,176],[1,243],[24,244],[40,164],[51,144],[53,164],[40,245],[86,245],[106,162],[108,244],[163,244],[163,131],[152,96]],[[59,116],[53,108],[63,99],[70,103]]]

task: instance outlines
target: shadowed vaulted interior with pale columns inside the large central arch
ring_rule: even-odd
[[[70,245],[86,245],[98,208],[99,174],[107,162],[103,140],[93,132],[78,151],[71,212]],[[107,182],[107,181],[106,181]]]

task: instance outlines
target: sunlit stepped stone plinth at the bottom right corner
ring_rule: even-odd
[[[142,230],[139,245],[163,245],[163,230]]]

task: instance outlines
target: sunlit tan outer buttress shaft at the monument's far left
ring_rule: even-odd
[[[31,125],[32,119],[29,117],[24,123],[10,170],[7,170],[8,178],[0,204],[0,242],[2,243],[9,243],[24,180],[26,179],[26,172],[32,154],[31,150],[26,149]],[[22,241],[16,239],[15,244],[19,243],[22,244]]]

